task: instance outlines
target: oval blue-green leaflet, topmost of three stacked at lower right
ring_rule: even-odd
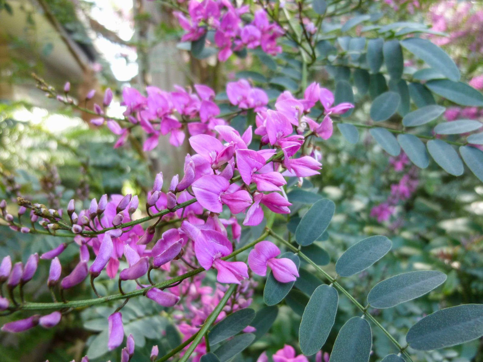
[[[335,271],[341,277],[357,274],[381,259],[391,250],[391,246],[391,240],[382,235],[366,237],[341,255],[335,264]]]

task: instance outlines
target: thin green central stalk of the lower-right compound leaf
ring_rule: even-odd
[[[386,331],[386,329],[382,326],[381,323],[379,323],[371,314],[369,314],[367,312],[366,308],[363,305],[361,305],[359,302],[357,302],[357,300],[355,300],[355,298],[347,290],[345,290],[344,287],[341,286],[341,284],[339,284],[337,282],[336,278],[332,278],[325,270],[323,270],[320,266],[315,264],[307,255],[305,255],[303,252],[299,251],[295,246],[290,244],[283,237],[280,237],[279,235],[275,234],[275,232],[273,232],[273,230],[268,229],[268,232],[272,237],[274,237],[275,239],[277,239],[281,243],[285,244],[287,247],[292,249],[294,252],[298,252],[298,255],[303,260],[305,260],[307,263],[312,265],[315,268],[315,270],[317,270],[320,274],[322,274],[325,278],[327,278],[328,281],[330,281],[340,292],[342,292],[342,294],[344,294],[347,298],[349,298],[349,300],[352,303],[354,303],[355,306],[357,308],[359,308],[362,313],[364,313],[364,315],[366,316],[367,319],[369,319],[372,323],[374,323],[376,326],[378,326],[384,332],[384,334],[391,340],[391,342],[396,345],[396,347],[399,349],[399,351],[401,351],[409,359],[409,361],[414,362],[412,360],[411,356],[409,355],[409,353],[399,344],[399,342],[389,332]]]

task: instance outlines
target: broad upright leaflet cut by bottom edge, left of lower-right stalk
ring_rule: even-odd
[[[369,322],[352,317],[339,331],[329,362],[368,362],[371,347],[372,333]]]

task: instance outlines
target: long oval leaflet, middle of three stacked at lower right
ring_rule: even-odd
[[[390,308],[431,292],[446,280],[437,270],[403,273],[377,283],[367,296],[373,308]]]

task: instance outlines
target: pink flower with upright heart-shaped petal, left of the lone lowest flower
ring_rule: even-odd
[[[242,262],[227,262],[221,259],[233,251],[230,241],[218,231],[200,230],[195,239],[195,255],[206,270],[212,266],[218,271],[220,283],[236,283],[248,278],[248,267]]]

